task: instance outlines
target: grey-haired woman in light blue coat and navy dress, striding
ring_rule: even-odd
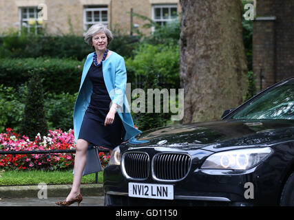
[[[112,151],[121,142],[140,133],[134,128],[125,96],[127,71],[125,61],[116,52],[107,49],[112,32],[98,23],[85,34],[85,41],[95,52],[87,56],[81,85],[74,106],[74,136],[76,155],[72,190],[59,206],[70,206],[83,200],[81,178],[87,160],[89,144]]]

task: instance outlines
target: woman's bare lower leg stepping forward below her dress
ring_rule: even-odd
[[[74,181],[72,183],[72,190],[67,196],[66,201],[74,199],[81,191],[81,179],[83,170],[87,161],[87,148],[89,142],[83,139],[78,139],[76,142],[76,155],[74,157]]]

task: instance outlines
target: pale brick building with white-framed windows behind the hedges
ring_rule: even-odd
[[[174,19],[180,3],[179,0],[0,0],[0,34],[9,28],[22,27],[35,33],[45,28],[47,34],[80,35],[98,21],[111,30],[129,33],[132,27],[148,33],[150,30],[142,28],[146,21],[131,19],[131,9],[163,25]]]

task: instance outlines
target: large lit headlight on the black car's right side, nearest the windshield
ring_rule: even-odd
[[[207,157],[201,168],[204,169],[228,169],[246,170],[251,168],[271,154],[269,147],[245,148],[233,151],[214,153]]]

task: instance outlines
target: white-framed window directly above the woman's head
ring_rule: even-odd
[[[87,6],[84,8],[84,30],[87,31],[94,23],[108,24],[107,6]]]

